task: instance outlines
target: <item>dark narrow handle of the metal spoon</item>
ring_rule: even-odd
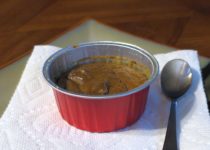
[[[178,150],[176,136],[176,101],[171,102],[171,110],[163,150]]]

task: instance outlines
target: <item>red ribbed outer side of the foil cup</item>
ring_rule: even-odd
[[[149,87],[110,100],[87,100],[54,90],[61,116],[76,128],[110,132],[136,122],[145,109]]]

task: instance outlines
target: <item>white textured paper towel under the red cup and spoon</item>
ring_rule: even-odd
[[[170,101],[158,78],[151,86],[143,116],[132,126],[110,133],[90,133],[62,120],[51,88],[42,78],[44,61],[59,50],[36,46],[17,89],[0,119],[1,150],[161,150],[168,122]],[[160,70],[174,58],[186,60],[193,70],[193,83],[180,98],[177,130],[180,150],[210,149],[210,118],[196,51],[156,55]],[[1,93],[3,94],[3,93]]]

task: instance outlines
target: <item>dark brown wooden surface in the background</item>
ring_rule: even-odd
[[[88,18],[210,57],[209,0],[1,0],[0,68]]]

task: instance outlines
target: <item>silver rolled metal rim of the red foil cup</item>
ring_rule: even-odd
[[[96,42],[85,42],[85,43],[81,43],[79,44],[77,47],[84,47],[84,46],[91,46],[91,45],[101,45],[101,44],[108,44],[108,45],[118,45],[118,46],[123,46],[123,47],[128,47],[128,48],[132,48],[135,49],[137,51],[141,51],[143,52],[144,55],[146,55],[150,61],[152,62],[152,66],[153,66],[153,74],[151,75],[150,79],[147,80],[144,84],[126,91],[126,92],[122,92],[122,93],[117,93],[117,94],[113,94],[113,95],[85,95],[85,94],[78,94],[78,93],[73,93],[73,92],[69,92],[63,88],[60,88],[57,84],[55,84],[49,77],[48,73],[47,73],[47,67],[49,67],[49,64],[52,63],[52,61],[54,61],[54,58],[62,55],[63,53],[65,53],[66,51],[70,51],[73,50],[74,47],[68,46],[66,48],[62,48],[61,50],[55,52],[54,54],[52,54],[44,63],[43,67],[42,67],[42,75],[43,78],[45,79],[45,81],[56,91],[59,91],[65,95],[69,95],[69,96],[73,96],[73,97],[78,97],[78,98],[83,98],[83,99],[90,99],[90,100],[103,100],[103,99],[114,99],[114,98],[120,98],[120,97],[125,97],[128,95],[131,95],[133,93],[137,93],[143,89],[146,89],[158,76],[159,73],[159,64],[158,61],[156,60],[156,58],[150,54],[148,51],[146,51],[145,49],[133,45],[133,44],[129,44],[129,43],[124,43],[124,42],[113,42],[113,41],[96,41]],[[76,48],[77,48],[76,47]]]

